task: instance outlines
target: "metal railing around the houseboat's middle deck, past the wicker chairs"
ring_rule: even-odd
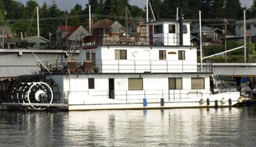
[[[167,61],[167,60],[95,60],[83,61],[73,60],[73,66],[69,66],[67,60],[43,61],[44,66],[51,73],[64,73],[67,69],[73,73],[93,73],[97,67],[99,73],[184,73],[184,72],[212,72],[212,64],[207,62],[203,69],[200,69],[197,61]],[[90,64],[86,64],[90,63]],[[89,66],[88,66],[89,65]],[[42,73],[48,73],[43,65]],[[86,69],[86,70],[83,70]]]

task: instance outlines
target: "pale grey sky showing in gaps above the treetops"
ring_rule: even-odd
[[[22,3],[26,3],[27,0],[17,0],[20,1]],[[44,3],[44,1],[48,4],[51,5],[52,4],[52,0],[36,0],[40,6]],[[244,6],[244,4],[247,7],[250,7],[253,3],[253,0],[240,0],[242,3],[242,6]],[[73,8],[76,3],[79,3],[83,6],[83,8],[85,7],[85,4],[88,3],[88,0],[55,0],[55,3],[58,4],[58,7],[61,8],[61,10],[68,10],[70,11],[71,8]],[[137,5],[140,8],[144,8],[145,6],[145,0],[130,0],[130,4],[131,5]]]

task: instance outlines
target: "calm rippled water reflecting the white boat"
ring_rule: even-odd
[[[0,146],[255,146],[256,107],[0,112]]]

